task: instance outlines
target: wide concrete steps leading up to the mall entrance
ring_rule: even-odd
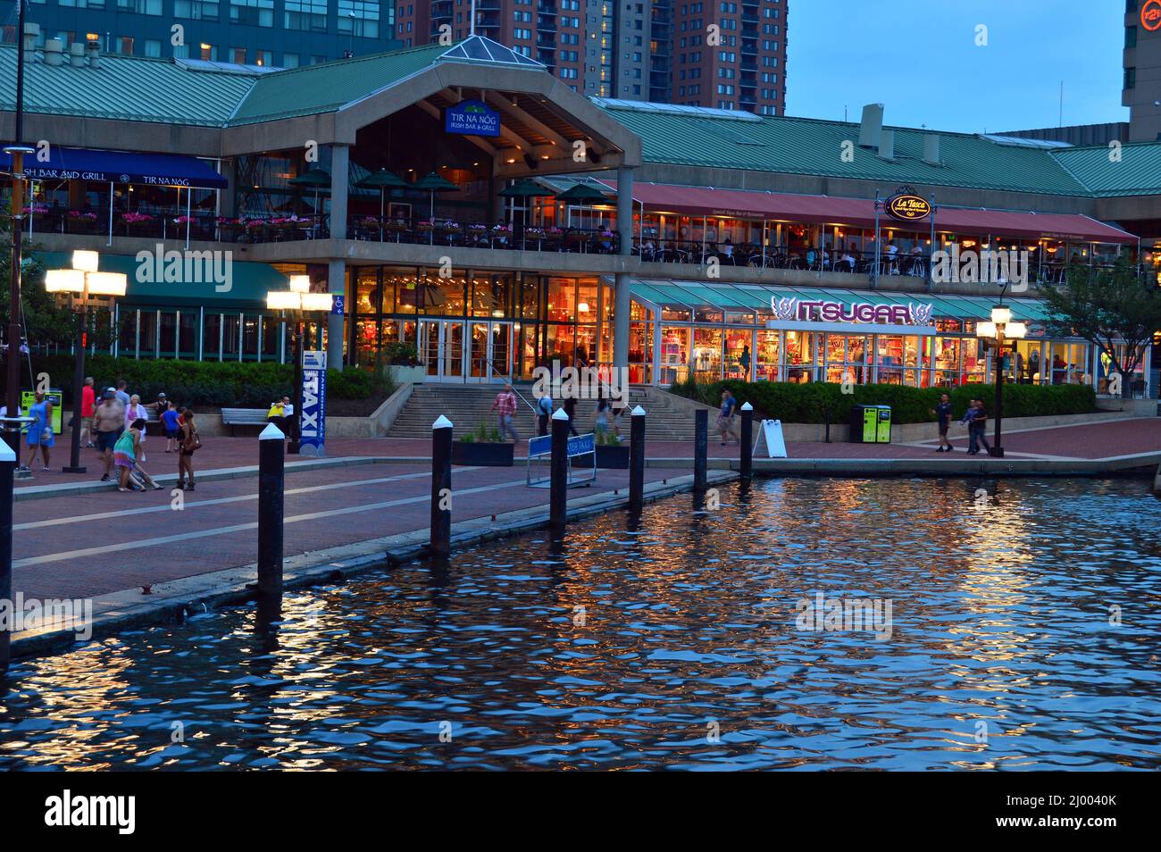
[[[497,384],[417,384],[411,398],[391,425],[389,438],[431,438],[432,424],[444,414],[453,424],[453,434],[459,438],[467,432],[474,432],[484,423],[488,428],[496,427],[496,414],[491,412],[492,400],[502,385]],[[518,395],[528,403],[535,404],[531,384],[515,385]],[[632,410],[640,405],[648,414],[646,435],[654,441],[692,441],[693,440],[693,403],[650,387],[634,387],[628,391],[628,405]],[[513,418],[515,431],[521,440],[536,434],[536,416],[528,404],[517,396],[519,405]],[[556,400],[560,407],[561,400]],[[705,406],[698,406],[705,407]],[[597,413],[596,399],[577,402],[577,432],[584,434],[593,431]],[[709,428],[713,431],[715,413],[709,412]],[[629,416],[621,418],[621,434],[628,440]]]

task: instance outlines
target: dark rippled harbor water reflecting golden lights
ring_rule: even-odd
[[[1155,770],[1159,530],[1141,481],[673,498],[21,662],[0,767]]]

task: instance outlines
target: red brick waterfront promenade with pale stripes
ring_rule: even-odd
[[[952,440],[964,447],[962,432]],[[1005,435],[1010,456],[1030,459],[1105,459],[1161,453],[1161,418],[1118,420]],[[792,459],[930,459],[933,443],[791,443]],[[35,471],[20,488],[88,482],[100,476],[95,450],[84,450],[84,477],[59,472],[67,461],[64,441],[53,456],[56,470]],[[651,459],[691,459],[691,443],[651,442]],[[336,439],[330,457],[391,457],[319,470],[294,469],[288,456],[286,553],[288,556],[368,539],[423,529],[430,514],[431,476],[425,456],[430,442],[414,439]],[[164,443],[146,445],[145,468],[174,475],[176,456]],[[711,443],[713,457],[737,457],[736,445]],[[960,453],[960,456],[964,454]],[[401,459],[414,457],[414,462]],[[945,456],[946,457],[946,456]],[[966,457],[966,456],[964,456]],[[978,456],[976,459],[982,459]],[[230,469],[257,464],[257,438],[211,436],[197,453],[199,468]],[[685,465],[679,465],[684,468]],[[647,468],[656,482],[687,470]],[[623,489],[628,471],[601,470],[584,494]],[[257,555],[257,477],[204,481],[172,507],[171,484],[161,491],[115,490],[21,500],[15,506],[14,591],[26,597],[92,597],[146,584],[244,565]],[[521,462],[514,468],[456,468],[453,477],[456,521],[547,504],[548,492],[525,485]]]

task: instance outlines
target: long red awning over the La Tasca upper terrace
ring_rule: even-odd
[[[601,181],[616,188],[616,181]],[[740,219],[781,219],[816,224],[874,228],[874,202],[832,195],[793,195],[747,189],[683,187],[672,183],[634,183],[633,198],[647,210],[687,216],[727,216]],[[930,223],[902,223],[880,214],[884,226],[925,231]],[[979,236],[1070,239],[1093,243],[1135,243],[1119,228],[1077,214],[1034,214],[983,208],[938,208],[936,230]]]

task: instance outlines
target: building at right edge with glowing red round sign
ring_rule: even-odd
[[[1161,139],[1161,0],[1125,0],[1123,64],[1130,142]]]

